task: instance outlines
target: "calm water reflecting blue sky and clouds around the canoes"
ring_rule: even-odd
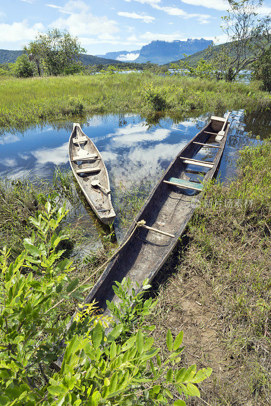
[[[237,151],[250,141],[255,142],[257,136],[262,140],[271,133],[268,113],[233,113],[219,173],[220,179],[226,182],[235,174]],[[129,189],[131,182],[136,186],[142,181],[156,182],[209,117],[202,115],[181,122],[161,118],[155,124],[148,124],[133,114],[122,117],[97,115],[84,120],[81,126],[102,153],[111,183],[122,183]],[[79,119],[74,121],[80,122]],[[50,180],[55,166],[70,168],[68,140],[71,130],[72,122],[57,122],[24,133],[2,133],[0,176]],[[207,152],[203,150],[202,159],[207,157]]]

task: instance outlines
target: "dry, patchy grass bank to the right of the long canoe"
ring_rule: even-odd
[[[270,143],[241,151],[238,169],[207,192],[153,284],[155,340],[183,329],[185,362],[214,371],[191,405],[270,404]]]

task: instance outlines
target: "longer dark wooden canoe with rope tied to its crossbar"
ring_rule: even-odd
[[[223,126],[225,135],[218,137],[217,133]],[[171,162],[136,216],[136,222],[145,220],[148,227],[172,234],[173,237],[143,227],[137,227],[134,231],[136,224],[133,222],[123,240],[123,248],[105,268],[85,303],[95,299],[99,307],[106,311],[106,300],[119,300],[112,289],[114,281],[121,282],[124,277],[130,277],[131,281],[138,282],[142,287],[144,279],[151,281],[155,277],[195,211],[193,199],[200,200],[203,184],[212,179],[218,170],[228,129],[228,117],[211,117],[208,124]],[[216,153],[212,162],[195,157],[202,148]],[[199,173],[203,175],[203,171],[202,183],[191,180]],[[135,286],[136,292],[140,289]]]

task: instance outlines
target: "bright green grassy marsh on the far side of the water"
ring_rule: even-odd
[[[171,116],[191,111],[259,109],[271,97],[257,83],[226,83],[155,74],[2,78],[0,127],[24,127],[42,120],[91,113],[164,110]]]

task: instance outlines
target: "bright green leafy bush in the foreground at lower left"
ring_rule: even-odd
[[[36,235],[24,240],[25,250],[16,260],[9,263],[9,250],[1,252],[1,406],[172,404],[173,391],[175,397],[178,393],[174,405],[183,406],[179,395],[200,396],[195,384],[212,370],[178,368],[182,331],[173,340],[168,330],[168,355],[161,359],[149,337],[152,327],[139,328],[154,303],[144,301],[142,292],[136,295],[130,280],[114,287],[122,302],[108,303],[113,317],[99,314],[91,303],[79,306],[66,328],[70,317],[59,317],[56,301],[83,300],[81,293],[89,288],[74,292],[78,281],[68,275],[72,261],[63,260],[64,251],[58,249],[67,239],[57,232],[66,215],[65,205],[57,210],[48,201],[45,211],[31,218]],[[53,374],[49,366],[59,356],[62,365]]]

